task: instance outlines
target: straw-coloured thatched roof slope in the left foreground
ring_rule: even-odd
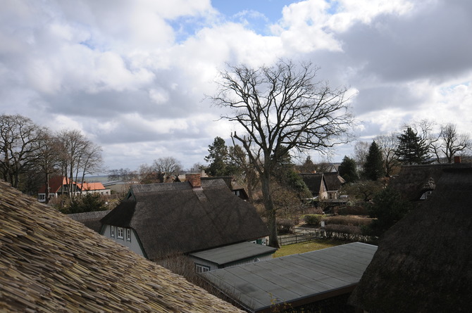
[[[1,312],[241,312],[0,181]]]

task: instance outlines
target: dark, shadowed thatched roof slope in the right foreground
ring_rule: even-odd
[[[385,233],[352,304],[370,312],[471,312],[472,169],[444,170],[433,194]]]

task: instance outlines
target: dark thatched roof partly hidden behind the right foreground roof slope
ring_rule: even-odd
[[[433,191],[437,181],[448,168],[472,167],[472,163],[404,165],[398,177],[390,179],[389,186],[409,201],[420,200],[423,193]]]

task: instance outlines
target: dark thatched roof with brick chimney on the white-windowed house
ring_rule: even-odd
[[[128,200],[102,224],[134,229],[150,260],[268,236],[253,205],[235,196],[221,179],[132,186]]]

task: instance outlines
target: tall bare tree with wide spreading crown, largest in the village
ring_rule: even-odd
[[[353,117],[348,112],[346,88],[331,89],[314,82],[318,68],[279,60],[271,67],[231,66],[221,72],[213,103],[229,108],[221,117],[237,122],[240,141],[261,179],[263,203],[270,231],[269,245],[278,247],[271,174],[280,158],[292,150],[327,148],[349,141]]]

